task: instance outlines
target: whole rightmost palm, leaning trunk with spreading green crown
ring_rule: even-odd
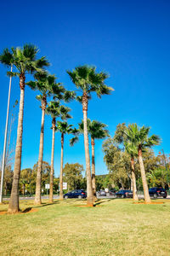
[[[142,153],[144,152],[145,148],[151,148],[154,145],[159,145],[159,143],[161,142],[160,137],[156,135],[152,135],[149,137],[149,132],[150,132],[150,127],[143,126],[139,128],[138,125],[136,124],[128,125],[127,129],[125,130],[127,139],[129,140],[130,143],[132,143],[133,148],[136,148],[135,149],[136,152],[138,152],[145,203],[150,203],[151,201],[150,201],[146,175],[144,171],[144,162],[143,162]]]

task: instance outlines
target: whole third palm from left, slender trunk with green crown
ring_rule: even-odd
[[[46,113],[50,114],[52,117],[52,150],[51,150],[51,172],[50,172],[50,188],[49,188],[49,202],[53,202],[53,187],[54,187],[54,136],[56,130],[56,118],[61,116],[61,119],[71,118],[68,113],[71,109],[60,105],[59,102],[49,102],[48,108],[46,108]]]

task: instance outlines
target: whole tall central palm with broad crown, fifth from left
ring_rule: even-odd
[[[77,100],[82,103],[83,113],[83,132],[84,132],[84,148],[86,158],[86,173],[87,173],[87,205],[89,207],[94,206],[94,194],[92,188],[92,177],[90,170],[90,156],[88,148],[88,100],[91,98],[91,92],[96,92],[99,98],[102,95],[111,94],[111,87],[105,84],[105,79],[108,78],[108,74],[104,72],[96,73],[95,67],[88,67],[87,65],[76,67],[72,72],[67,71],[77,89],[82,91],[82,96],[78,96]]]

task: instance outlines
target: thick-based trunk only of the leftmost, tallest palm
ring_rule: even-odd
[[[24,95],[25,95],[25,80],[24,74],[20,74],[20,111],[18,120],[17,140],[14,158],[14,177],[13,185],[8,205],[8,212],[19,212],[19,181],[20,181],[20,166],[22,154],[22,132],[23,132],[23,116],[24,116]]]

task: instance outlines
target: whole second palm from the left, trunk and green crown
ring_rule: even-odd
[[[58,99],[62,98],[62,93],[65,91],[64,87],[55,82],[55,76],[49,75],[48,73],[36,73],[36,81],[30,81],[27,83],[31,89],[39,90],[41,95],[37,96],[37,100],[41,101],[42,108],[42,123],[40,133],[40,146],[38,156],[38,167],[37,167],[37,181],[36,181],[36,195],[34,203],[40,205],[41,201],[41,183],[42,183],[42,157],[43,157],[43,134],[44,134],[44,119],[45,110],[47,107],[47,98],[55,95]]]

